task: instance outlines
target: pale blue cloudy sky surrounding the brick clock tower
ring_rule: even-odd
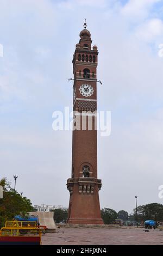
[[[84,19],[98,46],[101,208],[129,213],[163,203],[163,1],[0,0],[0,178],[33,205],[68,207],[72,131],[52,129],[54,111],[72,109],[72,57]]]

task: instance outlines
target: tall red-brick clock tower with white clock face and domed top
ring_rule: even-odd
[[[97,179],[97,46],[91,48],[91,34],[86,29],[80,32],[80,41],[73,55],[73,111],[74,119],[80,119],[80,130],[73,130],[72,175],[67,180],[70,191],[68,223],[103,224],[98,191],[101,180]],[[88,113],[89,112],[89,113]],[[92,129],[88,118],[92,118]],[[78,118],[78,119],[77,119]],[[85,126],[86,124],[86,126]]]

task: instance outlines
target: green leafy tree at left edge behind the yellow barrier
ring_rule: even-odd
[[[15,215],[28,215],[29,211],[33,211],[33,206],[29,199],[21,197],[11,188],[6,178],[0,180],[0,185],[3,186],[3,199],[0,199],[0,227],[2,227],[5,221],[12,220]]]

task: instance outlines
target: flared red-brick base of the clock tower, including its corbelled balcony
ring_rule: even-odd
[[[68,224],[104,224],[98,196],[101,185],[101,180],[96,178],[79,177],[67,180],[70,191]]]

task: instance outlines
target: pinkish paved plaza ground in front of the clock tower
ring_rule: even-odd
[[[163,231],[144,228],[61,228],[42,236],[42,245],[163,245]]]

